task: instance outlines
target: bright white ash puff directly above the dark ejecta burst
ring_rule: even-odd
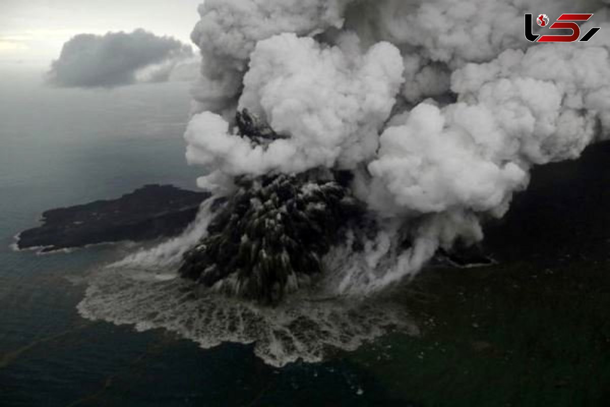
[[[389,43],[348,56],[339,47],[293,34],[260,41],[239,106],[288,137],[252,145],[233,134],[222,117],[204,112],[188,126],[187,158],[229,175],[355,168],[375,156],[402,70],[400,53]]]

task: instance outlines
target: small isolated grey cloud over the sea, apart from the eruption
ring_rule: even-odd
[[[59,87],[85,88],[185,79],[193,70],[192,59],[190,45],[143,29],[79,34],[63,45],[46,79]]]

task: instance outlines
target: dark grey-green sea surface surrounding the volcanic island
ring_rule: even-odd
[[[173,301],[178,282],[140,284],[100,273],[137,248],[45,255],[11,248],[46,209],[115,198],[148,183],[195,189],[201,169],[185,164],[182,140],[189,85],[61,90],[43,86],[34,71],[4,70],[0,406],[608,405],[608,145],[534,174],[531,195],[515,202],[525,209],[492,225],[490,242],[505,261],[426,270],[389,294],[402,313],[380,306],[350,315],[356,325],[367,315],[365,322],[393,320],[406,330],[354,346],[357,333],[338,331],[344,346],[331,347],[322,361],[274,364],[256,341],[212,346],[207,336],[202,347],[201,336],[185,333],[192,321],[182,323],[181,315],[201,308]],[[587,208],[580,218],[579,206]],[[91,298],[96,290],[102,295]],[[214,315],[223,304],[233,309],[215,301]],[[84,318],[87,307],[93,316]],[[286,315],[299,317],[299,309],[329,311],[296,303]],[[328,320],[337,322],[337,314],[341,309],[330,309]],[[223,337],[209,320],[198,322],[199,334]]]

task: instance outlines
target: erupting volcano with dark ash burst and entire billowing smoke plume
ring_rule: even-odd
[[[519,1],[467,5],[201,5],[185,139],[220,201],[181,275],[277,303],[340,251],[336,291],[378,290],[480,242],[534,165],[608,136],[608,34],[532,45]]]

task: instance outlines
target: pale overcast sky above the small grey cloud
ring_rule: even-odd
[[[0,62],[48,65],[81,33],[143,28],[190,43],[203,0],[0,0]]]

